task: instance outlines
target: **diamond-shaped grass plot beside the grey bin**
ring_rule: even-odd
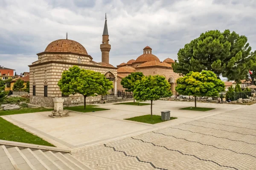
[[[171,117],[171,120],[173,120],[173,119],[177,119],[177,117]],[[165,122],[164,120],[161,120],[161,116],[153,115],[153,117],[151,118],[150,114],[132,117],[132,118],[125,119],[125,120],[131,120],[131,121],[135,121],[135,122],[143,122],[143,123],[149,123],[149,124]]]

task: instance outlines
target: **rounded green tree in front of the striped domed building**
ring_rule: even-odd
[[[86,97],[108,94],[108,90],[113,88],[113,83],[99,72],[73,66],[62,73],[58,86],[64,95],[82,94],[85,109]]]

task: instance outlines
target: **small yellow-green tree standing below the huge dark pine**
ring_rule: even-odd
[[[225,90],[225,85],[212,71],[191,71],[177,79],[175,89],[179,94],[194,96],[196,108],[197,96],[218,96],[219,92]]]

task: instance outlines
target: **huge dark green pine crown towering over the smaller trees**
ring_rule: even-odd
[[[225,30],[207,31],[192,40],[178,52],[178,60],[172,65],[176,73],[213,71],[218,78],[239,81],[248,73],[247,58],[251,47],[247,37]]]

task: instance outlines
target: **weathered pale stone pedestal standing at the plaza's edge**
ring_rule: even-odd
[[[69,116],[68,111],[63,110],[63,102],[64,99],[62,97],[55,97],[53,99],[54,102],[54,111],[52,111],[52,114],[49,115],[51,117],[62,117],[62,116]]]

